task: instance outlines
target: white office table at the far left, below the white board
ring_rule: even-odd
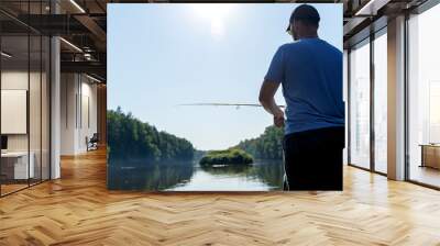
[[[14,179],[29,179],[34,178],[35,169],[34,169],[34,159],[35,155],[33,152],[29,154],[31,157],[31,161],[29,161],[28,168],[28,152],[7,152],[1,153],[1,158],[7,159],[8,161],[14,160]],[[4,160],[2,160],[4,161]]]

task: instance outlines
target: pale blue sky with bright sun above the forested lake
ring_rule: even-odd
[[[178,107],[257,103],[268,64],[296,3],[108,5],[108,108],[220,149],[272,124],[262,108]],[[342,4],[314,4],[319,36],[342,51]],[[278,104],[284,104],[282,91]]]

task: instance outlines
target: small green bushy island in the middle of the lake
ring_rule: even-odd
[[[210,150],[199,161],[200,166],[213,165],[251,165],[254,161],[252,155],[239,148],[226,150]]]

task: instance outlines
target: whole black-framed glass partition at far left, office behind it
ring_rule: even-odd
[[[0,3],[18,5],[48,13],[48,1]],[[0,13],[1,197],[50,179],[50,48],[47,36]]]

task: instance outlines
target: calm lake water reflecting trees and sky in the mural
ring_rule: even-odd
[[[280,190],[284,176],[280,160],[257,160],[251,166],[200,167],[198,161],[158,164],[111,159],[108,167],[108,188],[114,190]]]

